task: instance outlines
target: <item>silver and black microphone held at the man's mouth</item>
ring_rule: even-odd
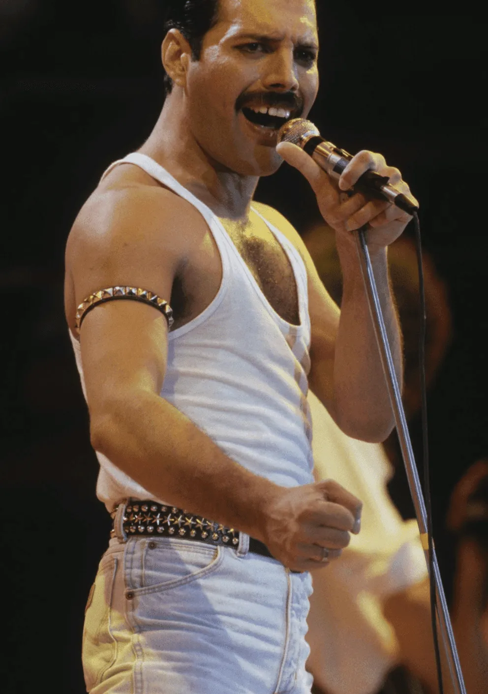
[[[281,126],[278,131],[278,144],[280,142],[292,142],[292,144],[298,145],[312,157],[314,162],[319,164],[323,171],[337,179],[340,178],[342,171],[353,158],[352,154],[323,139],[318,128],[303,118],[294,118]],[[383,198],[408,214],[417,212],[419,210],[418,205],[388,181],[387,176],[380,176],[376,171],[365,171],[353,185],[353,190],[360,190],[373,197]]]

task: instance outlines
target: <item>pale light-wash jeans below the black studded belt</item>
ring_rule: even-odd
[[[110,540],[90,591],[92,694],[310,694],[309,573],[172,537]]]

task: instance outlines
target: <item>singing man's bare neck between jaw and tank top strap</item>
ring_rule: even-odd
[[[179,109],[165,103],[149,139],[139,150],[153,158],[218,217],[246,220],[258,176],[217,168],[195,142]]]

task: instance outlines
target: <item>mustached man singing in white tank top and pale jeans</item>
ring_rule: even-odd
[[[314,483],[312,388],[347,434],[382,441],[389,397],[352,230],[369,251],[401,378],[386,247],[410,218],[346,195],[278,128],[317,96],[314,0],[178,0],[162,43],[167,98],[115,162],[66,253],[66,314],[96,493],[114,527],[87,602],[92,694],[305,694],[308,570],[360,530],[361,503]],[[255,203],[292,164],[337,234],[342,312],[294,228]]]

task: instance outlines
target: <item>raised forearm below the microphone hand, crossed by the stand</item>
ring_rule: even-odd
[[[392,430],[394,420],[360,260],[353,242],[337,244],[337,248],[344,288],[335,346],[335,407],[344,421],[353,423],[352,436],[381,441]],[[371,251],[371,262],[396,375],[401,384],[401,333],[389,287],[386,248]]]

